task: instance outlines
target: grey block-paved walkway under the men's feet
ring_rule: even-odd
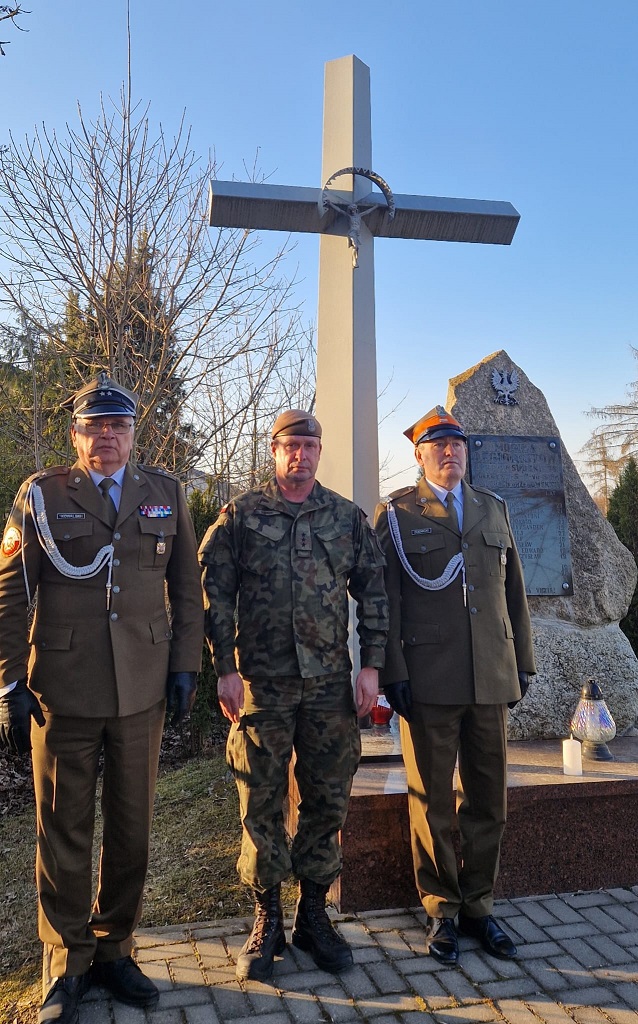
[[[159,1007],[134,1010],[93,988],[80,1024],[638,1024],[638,886],[502,900],[495,915],[515,962],[461,938],[459,966],[443,968],[425,955],[420,907],[370,910],[334,915],[352,970],[326,974],[289,945],[268,984],[235,978],[247,919],[142,930],[137,958]]]

